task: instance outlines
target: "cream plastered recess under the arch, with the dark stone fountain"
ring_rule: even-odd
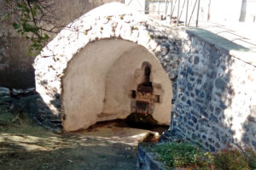
[[[65,131],[125,119],[131,113],[170,123],[171,81],[159,60],[135,42],[90,42],[69,61],[62,82]]]

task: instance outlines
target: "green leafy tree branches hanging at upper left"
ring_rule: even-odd
[[[57,33],[54,4],[49,0],[4,0],[6,14],[3,20],[13,21],[20,35],[30,40],[29,54],[38,54],[49,41],[49,34]]]

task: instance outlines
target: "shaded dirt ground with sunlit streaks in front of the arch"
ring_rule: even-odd
[[[57,134],[34,123],[0,121],[0,169],[135,170],[137,143],[149,132],[108,122]]]

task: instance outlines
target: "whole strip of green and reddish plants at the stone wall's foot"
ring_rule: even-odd
[[[218,152],[205,152],[189,142],[165,143],[154,151],[170,167],[189,169],[256,170],[256,154],[253,149],[238,150],[228,147]]]

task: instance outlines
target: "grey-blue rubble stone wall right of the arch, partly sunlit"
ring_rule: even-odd
[[[213,45],[206,34],[189,34],[179,65],[174,130],[207,150],[228,144],[256,149],[255,66],[219,48],[218,36]],[[247,51],[233,42],[226,45]]]

